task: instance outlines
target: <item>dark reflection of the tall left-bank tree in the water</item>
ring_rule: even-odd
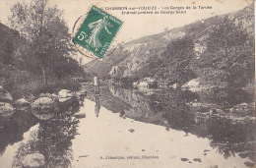
[[[20,167],[26,155],[39,152],[44,155],[44,167],[70,167],[72,142],[77,134],[79,120],[72,114],[79,111],[79,101],[73,98],[60,104],[60,111],[47,120],[40,121],[30,140],[22,143],[14,158],[13,166]]]

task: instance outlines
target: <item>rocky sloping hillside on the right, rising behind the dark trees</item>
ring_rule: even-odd
[[[156,72],[159,72],[160,69],[167,71],[167,67],[171,66],[171,64],[162,64],[162,62],[174,59],[169,53],[166,53],[168,48],[176,40],[186,37],[193,41],[193,51],[190,53],[193,56],[190,57],[189,64],[194,65],[190,69],[198,77],[200,76],[197,73],[199,69],[195,65],[202,61],[204,54],[207,54],[207,42],[212,37],[210,37],[212,31],[224,24],[226,27],[234,25],[233,29],[241,30],[249,36],[247,41],[253,41],[253,15],[253,4],[251,4],[241,11],[197,21],[159,34],[144,36],[119,44],[116,48],[109,50],[102,61],[90,62],[84,66],[84,69],[86,72],[97,74],[99,78],[103,79],[128,78],[139,80],[153,77],[160,80],[161,77]],[[224,35],[228,37],[228,34]],[[115,73],[111,72],[112,67],[116,69]]]

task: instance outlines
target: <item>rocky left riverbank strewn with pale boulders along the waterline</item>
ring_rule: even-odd
[[[61,89],[55,93],[46,92],[36,96],[27,93],[22,98],[14,100],[10,92],[0,85],[0,117],[11,117],[14,113],[31,110],[35,117],[46,120],[62,103],[66,103],[72,97],[86,94],[86,91]]]

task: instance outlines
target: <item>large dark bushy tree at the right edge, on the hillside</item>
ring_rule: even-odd
[[[253,37],[253,36],[252,36]],[[240,88],[254,78],[254,41],[227,18],[214,27],[202,54],[200,76],[211,86]]]

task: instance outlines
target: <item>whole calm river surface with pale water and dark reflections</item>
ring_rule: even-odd
[[[48,120],[31,112],[1,119],[0,167],[22,167],[23,158],[35,152],[44,155],[45,167],[242,168],[255,163],[255,121],[208,113],[249,103],[247,94],[228,101],[207,92],[113,86],[100,94],[74,97]]]

